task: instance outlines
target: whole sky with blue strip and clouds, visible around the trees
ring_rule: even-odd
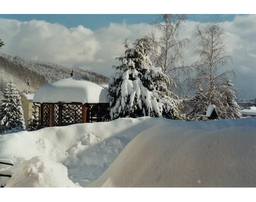
[[[11,14],[10,14],[11,13]],[[94,71],[114,73],[116,57],[124,55],[124,40],[130,43],[148,34],[156,14],[0,14],[0,51],[26,59],[48,61]],[[188,14],[181,38],[186,64],[195,62],[195,25],[215,18],[214,14]],[[256,98],[256,14],[222,14],[226,20],[226,48],[233,62],[226,68],[236,71],[232,79],[242,98]]]

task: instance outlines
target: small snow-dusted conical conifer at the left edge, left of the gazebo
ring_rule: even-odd
[[[24,129],[26,126],[20,95],[14,88],[13,80],[9,80],[0,103],[0,133]]]

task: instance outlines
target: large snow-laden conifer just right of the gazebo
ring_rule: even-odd
[[[121,65],[109,81],[111,119],[154,116],[182,119],[181,102],[168,86],[173,82],[161,68],[155,67],[147,54],[148,39],[140,38],[125,56],[117,58]]]

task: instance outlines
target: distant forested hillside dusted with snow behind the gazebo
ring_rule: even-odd
[[[108,84],[109,78],[88,70],[66,67],[56,63],[27,60],[18,56],[0,53],[0,91],[9,79],[19,92],[35,92],[40,86],[53,81],[68,78],[73,70],[73,77],[92,81],[102,86]],[[27,81],[30,81],[28,88]]]

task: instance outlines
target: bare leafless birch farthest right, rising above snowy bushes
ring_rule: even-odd
[[[194,79],[208,92],[208,104],[213,102],[214,90],[223,82],[227,81],[228,76],[233,71],[225,71],[218,74],[218,71],[231,60],[231,56],[226,53],[224,22],[218,20],[213,23],[199,24],[196,27],[195,37],[198,40],[199,60],[196,62],[197,76]]]

